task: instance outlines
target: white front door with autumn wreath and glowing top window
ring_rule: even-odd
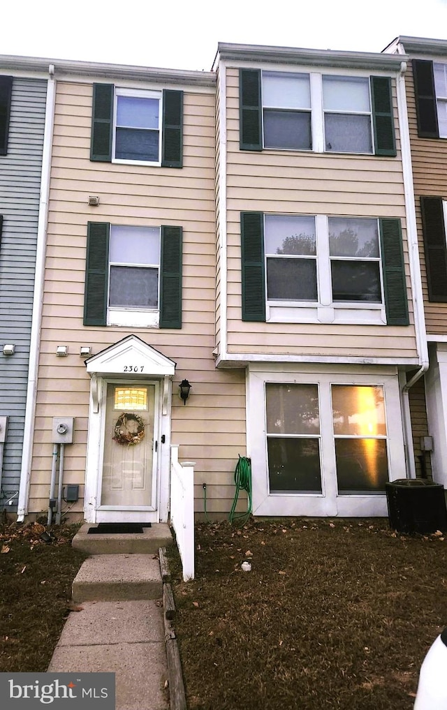
[[[97,522],[157,520],[158,382],[107,387]]]

